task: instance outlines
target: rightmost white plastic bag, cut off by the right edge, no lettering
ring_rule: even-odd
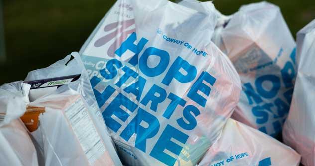
[[[314,56],[315,20],[297,33],[298,75],[282,133],[284,143],[301,155],[304,166],[315,166]]]

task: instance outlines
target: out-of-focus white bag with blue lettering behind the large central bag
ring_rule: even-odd
[[[218,19],[213,41],[242,82],[232,118],[279,138],[296,76],[295,42],[279,7],[253,3]]]

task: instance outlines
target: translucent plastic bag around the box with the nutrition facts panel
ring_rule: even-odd
[[[70,61],[70,58],[74,57]],[[45,166],[122,165],[97,106],[88,75],[78,53],[47,68],[29,72],[25,81],[81,74],[29,106],[45,107],[39,127],[31,132]]]

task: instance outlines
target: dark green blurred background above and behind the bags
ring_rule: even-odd
[[[0,0],[0,84],[23,80],[79,51],[116,0]],[[175,1],[175,0],[172,0]],[[229,15],[261,0],[214,0]],[[268,0],[281,8],[293,34],[315,19],[315,0]]]

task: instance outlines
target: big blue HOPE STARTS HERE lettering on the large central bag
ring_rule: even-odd
[[[115,133],[119,130],[119,136],[125,141],[130,140],[135,134],[134,145],[137,149],[166,165],[174,165],[176,162],[174,155],[178,156],[180,154],[183,149],[182,146],[189,138],[185,131],[191,131],[197,126],[196,117],[200,115],[198,108],[206,106],[206,98],[210,96],[211,88],[213,88],[216,78],[206,71],[201,71],[198,76],[196,67],[181,56],[177,56],[173,62],[170,62],[169,53],[156,47],[146,48],[138,58],[138,54],[143,50],[148,40],[141,38],[135,44],[136,39],[136,33],[132,33],[121,44],[120,48],[115,51],[115,55],[123,57],[127,51],[133,52],[134,56],[128,60],[128,63],[131,64],[130,66],[139,68],[141,73],[147,78],[154,78],[166,72],[163,79],[160,81],[156,79],[148,90],[144,90],[147,79],[143,75],[141,77],[138,72],[123,65],[118,59],[111,59],[104,64],[105,68],[99,71],[103,78],[98,78],[97,76],[91,78],[93,91],[100,108],[106,101],[109,101],[108,99],[114,92],[119,92],[105,110],[101,110],[108,128]],[[148,64],[150,56],[159,57],[159,62],[154,67]],[[124,74],[118,75],[117,79],[118,70],[124,71]],[[126,86],[125,83],[128,79],[132,78],[137,78],[136,82]],[[118,81],[113,85],[106,84],[105,90],[100,92],[95,87],[103,79],[117,79]],[[185,93],[185,97],[189,98],[191,102],[184,100],[182,98],[184,96],[178,96],[165,89],[175,80],[177,83],[190,83],[195,80],[189,91]],[[181,86],[181,84],[178,84],[178,86]],[[143,91],[146,91],[146,93],[143,94]],[[137,101],[131,100],[130,97],[125,96],[122,92],[128,95],[132,94]],[[165,110],[158,110],[158,105],[162,103],[168,106],[164,107]],[[150,109],[145,109],[149,104],[151,104]],[[166,127],[163,127],[164,130],[159,132],[161,130],[160,122],[163,121],[163,124],[167,122],[177,107],[182,108],[182,117],[176,119],[178,125],[172,126],[167,123]],[[157,111],[162,112],[162,116],[157,117]],[[134,114],[136,115],[134,116]],[[178,126],[181,128],[180,130]],[[147,152],[147,140],[155,136],[158,139],[153,149]],[[165,153],[165,150],[174,155]]]

